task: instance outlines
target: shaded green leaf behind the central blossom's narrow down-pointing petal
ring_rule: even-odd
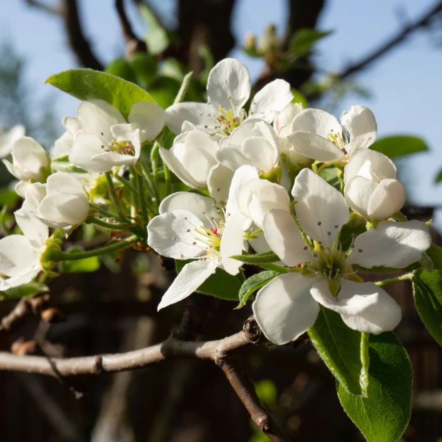
[[[177,273],[191,260],[175,260]],[[230,275],[226,271],[216,269],[215,273],[210,275],[205,282],[198,287],[196,292],[212,295],[215,298],[226,299],[228,301],[237,301],[238,293],[243,283],[244,277],[242,273],[236,276]]]

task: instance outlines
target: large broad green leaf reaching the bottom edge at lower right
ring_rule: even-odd
[[[349,394],[338,385],[347,415],[369,442],[395,442],[410,420],[413,371],[394,333],[370,336],[368,397]]]

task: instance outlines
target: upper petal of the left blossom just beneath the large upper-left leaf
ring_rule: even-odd
[[[78,124],[87,134],[110,141],[110,127],[126,123],[122,113],[104,100],[82,101],[77,107]]]

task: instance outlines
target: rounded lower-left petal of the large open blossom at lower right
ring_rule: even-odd
[[[286,273],[259,290],[252,309],[269,341],[286,344],[313,326],[319,313],[319,304],[310,295],[315,282],[315,278]]]

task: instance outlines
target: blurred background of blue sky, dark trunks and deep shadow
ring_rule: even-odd
[[[395,159],[408,190],[406,212],[433,217],[440,245],[442,2],[435,0],[4,1],[0,126],[24,124],[50,148],[63,133],[61,118],[74,115],[77,105],[44,84],[51,74],[76,66],[107,70],[145,87],[166,107],[188,70],[194,82],[187,99],[203,100],[208,71],[226,56],[248,66],[257,89],[282,77],[305,106],[339,117],[359,103],[373,110],[380,138],[413,137],[407,142],[419,143],[419,152]],[[0,178],[10,179],[4,169]],[[77,238],[89,241],[85,247],[99,242],[86,236]],[[46,328],[36,317],[27,320],[0,334],[2,349],[69,356],[128,351],[178,327],[184,305],[156,313],[172,270],[136,252],[102,264],[52,283],[51,305],[64,322]],[[421,325],[408,286],[398,283],[391,293],[403,307],[397,334],[415,370],[414,411],[403,439],[435,442],[442,437],[441,352]],[[0,316],[13,306],[0,304]],[[219,303],[204,339],[238,331],[249,314],[249,307],[232,312],[232,304]],[[253,349],[243,363],[292,440],[363,440],[309,344]],[[0,428],[7,442],[267,440],[221,371],[197,360],[62,382],[0,373]]]

